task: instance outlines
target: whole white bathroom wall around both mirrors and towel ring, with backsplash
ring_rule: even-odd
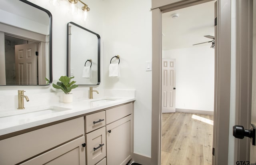
[[[29,0],[52,13],[53,17],[53,80],[66,75],[66,24],[75,22],[98,34],[101,42],[101,89],[135,89],[134,152],[151,157],[152,72],[145,71],[145,62],[152,59],[151,1],[149,0],[86,0],[90,7],[89,22],[70,15],[64,2],[56,7],[48,0]],[[80,5],[81,6],[81,5]],[[114,55],[120,55],[120,78],[108,77],[108,66]],[[114,62],[114,61],[113,61]],[[77,98],[88,98],[88,85],[72,90]],[[59,101],[59,93],[50,86],[0,86],[0,110],[15,107],[18,89],[25,89],[30,101],[26,107]],[[100,92],[100,94],[102,94]],[[33,95],[34,97],[31,97]],[[8,97],[6,97],[8,96]],[[98,96],[98,95],[94,95]],[[54,97],[54,99],[50,99]],[[40,100],[41,99],[41,100]],[[8,103],[14,104],[9,106]]]

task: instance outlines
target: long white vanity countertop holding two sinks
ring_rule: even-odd
[[[94,102],[102,99],[112,99],[108,102]],[[0,112],[0,136],[31,127],[83,115],[100,109],[105,109],[115,105],[128,103],[135,101],[134,97],[100,97],[95,99],[84,99],[73,101],[72,103],[53,103],[52,105],[40,106],[40,107],[29,107],[26,109],[6,109],[6,111]],[[40,114],[38,116],[31,117],[30,115],[23,115],[24,113],[29,114],[30,112],[38,111],[38,109],[48,109],[51,107],[60,108],[59,111],[54,113]],[[63,110],[64,109],[64,110]],[[19,117],[23,115],[23,117]],[[13,116],[14,119],[9,119],[6,116]]]

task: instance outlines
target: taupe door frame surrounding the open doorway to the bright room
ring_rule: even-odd
[[[209,2],[211,0],[152,0],[152,135],[151,165],[160,165],[161,153],[161,65],[162,12]],[[217,0],[217,35],[214,97],[213,164],[228,164],[231,72],[231,2]],[[218,117],[217,117],[218,116]]]

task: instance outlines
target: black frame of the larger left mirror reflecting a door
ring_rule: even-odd
[[[42,10],[44,12],[46,12],[49,16],[49,27],[50,27],[50,31],[49,31],[49,83],[46,85],[50,85],[52,83],[52,14],[46,10],[45,8],[42,8],[41,6],[38,6],[36,4],[33,4],[32,2],[29,2],[27,0],[19,0],[21,2],[24,2],[30,6],[33,6],[34,8],[38,8],[39,10]],[[33,86],[33,85],[26,85],[26,86]],[[36,86],[45,86],[45,85],[36,85]]]

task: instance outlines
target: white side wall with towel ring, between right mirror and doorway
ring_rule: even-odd
[[[152,17],[149,0],[106,0],[104,88],[135,89],[134,152],[151,157]],[[120,55],[120,78],[109,78],[110,59]],[[112,62],[117,62],[112,60]]]

